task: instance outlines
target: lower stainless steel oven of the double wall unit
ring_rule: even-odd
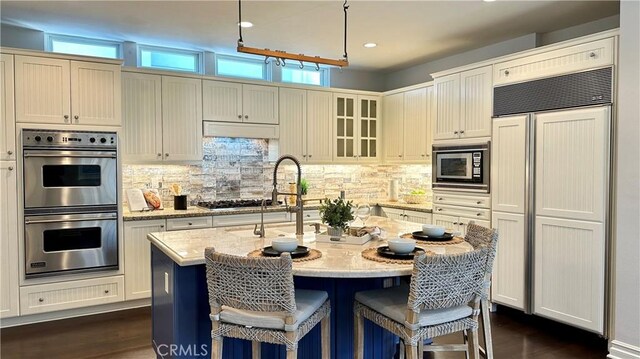
[[[118,214],[25,217],[26,274],[117,268]]]

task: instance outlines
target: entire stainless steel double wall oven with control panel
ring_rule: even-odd
[[[27,277],[118,268],[115,132],[22,131]]]

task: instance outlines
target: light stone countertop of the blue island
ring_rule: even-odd
[[[396,221],[384,217],[372,216],[367,225],[376,225],[386,233],[385,238],[419,230],[419,223]],[[305,227],[305,229],[308,226]],[[303,236],[295,236],[295,225],[266,225],[266,238],[253,234],[253,227],[227,227],[193,229],[175,232],[150,233],[147,238],[180,266],[204,264],[204,249],[214,247],[217,251],[231,255],[245,256],[247,253],[271,245],[271,240],[279,237],[296,237],[301,245],[322,252],[316,260],[293,263],[293,274],[305,277],[325,278],[375,278],[410,275],[412,265],[375,262],[362,257],[361,252],[371,247],[385,245],[385,240],[371,240],[364,245],[318,243],[315,234],[310,231]],[[438,254],[463,253],[471,250],[471,245],[463,242],[456,245],[418,246]]]

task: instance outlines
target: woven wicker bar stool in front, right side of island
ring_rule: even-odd
[[[417,255],[409,286],[358,292],[354,302],[356,359],[364,356],[364,318],[404,341],[409,359],[418,358],[425,338],[468,332],[466,344],[429,345],[425,351],[464,351],[479,357],[478,315],[487,275],[495,256],[497,235],[490,245],[456,255]]]

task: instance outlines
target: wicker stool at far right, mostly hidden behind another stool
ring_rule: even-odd
[[[495,245],[497,238],[497,232],[495,229],[489,229],[486,227],[474,224],[473,221],[469,222],[467,226],[467,234],[464,240],[469,242],[474,249],[482,247],[490,247]],[[497,247],[496,247],[497,248]],[[489,268],[493,268],[493,261],[496,256],[496,251],[489,253],[487,265]],[[482,317],[482,333],[484,337],[484,347],[480,347],[480,354],[487,359],[493,359],[493,340],[491,339],[491,320],[489,318],[489,292],[491,289],[491,271],[486,274],[484,283],[484,292],[480,299],[480,315]]]

